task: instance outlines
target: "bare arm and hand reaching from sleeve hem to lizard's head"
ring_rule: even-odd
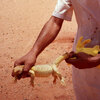
[[[63,19],[51,16],[42,28],[32,49],[23,57],[16,60],[14,66],[25,65],[22,76],[26,76],[29,69],[35,64],[37,56],[48,46],[58,35]],[[14,72],[12,73],[14,76]]]

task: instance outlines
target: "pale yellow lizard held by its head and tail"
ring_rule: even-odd
[[[59,56],[53,64],[45,64],[45,65],[35,65],[29,70],[29,75],[31,77],[31,84],[34,86],[34,78],[35,77],[48,77],[52,75],[54,77],[53,83],[56,82],[56,79],[59,78],[61,80],[61,84],[65,85],[64,77],[58,71],[58,65],[61,61],[68,58],[68,53],[65,53],[62,56]],[[14,68],[15,80],[17,80],[17,76],[22,73],[24,66],[16,66]]]

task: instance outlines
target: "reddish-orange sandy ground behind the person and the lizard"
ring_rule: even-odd
[[[0,100],[75,100],[72,69],[63,61],[59,71],[65,77],[66,87],[60,80],[54,85],[53,77],[36,78],[35,87],[30,79],[14,84],[11,72],[16,59],[27,53],[42,26],[50,18],[56,0],[0,0]],[[56,40],[38,57],[36,64],[52,63],[59,55],[72,50],[76,21],[65,21]]]

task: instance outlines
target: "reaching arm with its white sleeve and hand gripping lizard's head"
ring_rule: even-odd
[[[55,39],[61,29],[63,20],[71,20],[73,8],[70,5],[70,0],[58,0],[53,16],[42,28],[32,49],[25,56],[15,61],[14,66],[25,65],[23,73],[29,71],[35,64],[37,56]]]

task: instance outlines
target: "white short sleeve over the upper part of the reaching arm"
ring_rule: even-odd
[[[73,8],[70,0],[58,0],[53,16],[71,21]]]

